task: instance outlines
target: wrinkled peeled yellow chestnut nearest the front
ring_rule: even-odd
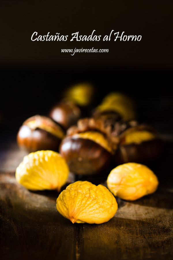
[[[118,205],[105,186],[76,181],[60,193],[56,207],[72,223],[101,224],[113,218]]]

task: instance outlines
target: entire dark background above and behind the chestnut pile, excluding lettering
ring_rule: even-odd
[[[138,118],[172,133],[172,1],[4,1],[1,3],[1,129],[47,114],[64,88],[89,81],[95,104],[109,91],[136,102]],[[71,34],[142,35],[140,42],[70,42]],[[66,42],[31,41],[57,32]],[[61,53],[65,48],[108,53]],[[158,123],[159,122],[159,123]]]

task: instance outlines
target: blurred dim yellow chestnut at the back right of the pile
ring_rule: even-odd
[[[124,121],[136,118],[134,102],[131,98],[123,93],[109,93],[95,109],[94,116],[98,114],[119,114]]]

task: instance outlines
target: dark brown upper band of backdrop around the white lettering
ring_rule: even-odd
[[[3,1],[1,65],[172,68],[172,1]],[[125,31],[140,42],[32,42],[38,34]],[[70,38],[70,37],[69,37]],[[105,54],[62,54],[62,48],[109,48]]]

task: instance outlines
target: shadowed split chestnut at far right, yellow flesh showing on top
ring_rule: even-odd
[[[119,146],[114,155],[117,164],[144,163],[157,159],[162,150],[162,141],[156,131],[146,125],[125,129],[119,135]]]

